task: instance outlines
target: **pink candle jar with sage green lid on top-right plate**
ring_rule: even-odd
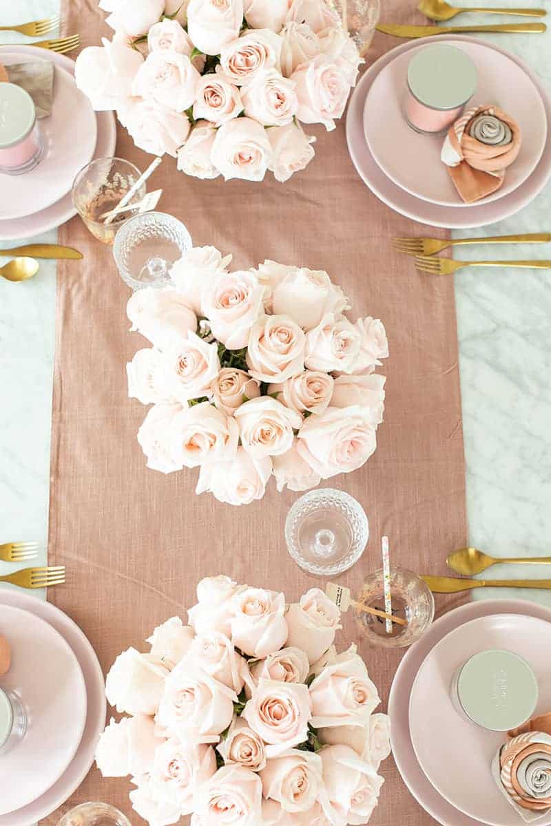
[[[456,46],[434,44],[416,51],[407,67],[403,107],[417,132],[437,135],[463,112],[477,88],[477,67]]]

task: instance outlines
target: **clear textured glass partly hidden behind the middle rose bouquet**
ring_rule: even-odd
[[[123,281],[139,290],[169,284],[173,263],[191,248],[191,235],[182,221],[164,212],[144,212],[121,227],[113,255]]]

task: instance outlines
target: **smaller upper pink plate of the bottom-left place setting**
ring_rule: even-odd
[[[24,738],[2,754],[0,814],[31,803],[73,760],[86,723],[86,685],[73,649],[45,619],[0,605],[0,632],[12,663],[2,688],[17,691],[26,709]]]

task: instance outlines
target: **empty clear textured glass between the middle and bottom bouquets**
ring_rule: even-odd
[[[285,522],[292,558],[319,577],[335,577],[358,562],[368,536],[363,507],[353,496],[330,487],[297,499]]]

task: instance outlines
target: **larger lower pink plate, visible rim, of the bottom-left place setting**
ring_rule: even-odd
[[[51,628],[58,632],[73,649],[74,655],[82,669],[86,693],[88,696],[88,710],[83,730],[83,736],[78,745],[78,749],[72,762],[48,790],[23,806],[21,809],[10,814],[0,815],[0,826],[31,826],[37,821],[47,817],[55,809],[58,809],[67,798],[73,794],[74,790],[80,786],[84,777],[88,774],[93,764],[94,752],[97,739],[102,733],[105,725],[106,700],[104,694],[104,682],[102,669],[97,662],[96,654],[83,632],[74,624],[72,619],[51,605],[50,602],[42,601],[36,596],[28,596],[11,588],[0,589],[0,612],[7,606],[14,606],[26,613],[34,615],[36,618],[45,620]],[[10,631],[7,637],[11,638]],[[59,729],[63,725],[63,719],[59,723]],[[9,752],[8,752],[9,753]],[[43,766],[48,762],[49,756],[43,762]],[[3,765],[2,765],[3,768]],[[33,776],[26,768],[25,776],[28,780]],[[10,778],[11,783],[11,778]],[[2,795],[4,786],[2,785]]]

